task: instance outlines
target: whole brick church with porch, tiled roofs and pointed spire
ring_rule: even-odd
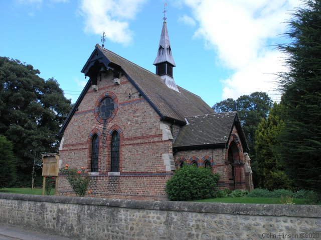
[[[221,189],[253,189],[237,112],[216,113],[175,83],[166,18],[153,64],[155,74],[96,44],[58,133],[62,166],[84,166],[93,197],[168,199],[166,182],[183,163],[219,172]],[[63,175],[58,194],[74,195]]]

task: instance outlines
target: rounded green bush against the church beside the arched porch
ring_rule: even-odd
[[[165,191],[172,201],[211,198],[215,196],[219,177],[208,168],[185,165],[167,181]]]

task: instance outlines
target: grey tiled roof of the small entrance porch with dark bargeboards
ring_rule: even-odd
[[[248,151],[244,132],[236,111],[187,117],[188,124],[182,127],[173,148],[226,147],[233,126],[236,125],[243,149]]]

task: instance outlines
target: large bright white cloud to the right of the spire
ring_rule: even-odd
[[[222,80],[222,98],[261,90],[272,94],[282,55],[271,46],[285,31],[288,10],[299,0],[177,0],[191,7],[199,27],[194,37],[218,54],[234,73]],[[273,97],[273,95],[270,95]],[[275,98],[275,95],[274,95]]]

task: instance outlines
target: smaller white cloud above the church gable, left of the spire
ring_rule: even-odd
[[[129,44],[133,32],[128,20],[135,18],[146,0],[81,0],[80,14],[85,18],[85,32],[106,32],[111,41]]]

